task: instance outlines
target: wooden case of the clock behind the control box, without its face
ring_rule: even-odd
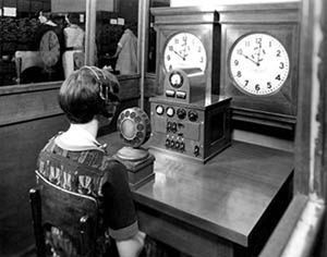
[[[219,94],[220,69],[220,26],[219,15],[216,11],[201,11],[195,8],[154,8],[150,10],[156,16],[155,29],[157,32],[157,57],[164,57],[166,44],[177,33],[187,32],[203,42],[207,65],[205,70],[206,96]],[[158,95],[164,91],[166,71],[162,58],[156,63]]]

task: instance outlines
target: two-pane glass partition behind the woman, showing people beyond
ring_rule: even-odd
[[[0,2],[0,86],[63,81],[84,64],[86,0]],[[97,0],[95,65],[137,73],[138,0]]]

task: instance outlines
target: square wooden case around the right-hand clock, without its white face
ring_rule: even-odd
[[[220,94],[232,97],[233,121],[294,131],[300,4],[238,4],[221,7],[217,11],[221,24]],[[252,96],[242,93],[230,76],[230,51],[238,39],[251,33],[266,33],[276,37],[289,54],[288,78],[274,95]]]

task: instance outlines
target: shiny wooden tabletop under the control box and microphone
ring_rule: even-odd
[[[114,152],[118,137],[100,142]],[[241,142],[206,164],[150,151],[156,176],[134,192],[135,200],[242,246],[293,170],[292,154]]]

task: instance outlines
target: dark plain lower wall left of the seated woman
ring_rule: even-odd
[[[28,189],[35,184],[37,154],[66,127],[63,114],[0,127],[0,256],[34,243]]]

